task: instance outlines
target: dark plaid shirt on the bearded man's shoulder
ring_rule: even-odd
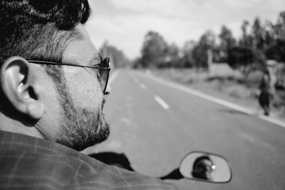
[[[178,189],[61,144],[0,131],[0,189]]]

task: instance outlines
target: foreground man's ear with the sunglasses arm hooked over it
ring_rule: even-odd
[[[31,64],[19,56],[7,59],[0,70],[1,91],[11,106],[31,119],[40,119],[44,105],[39,100],[38,80]]]

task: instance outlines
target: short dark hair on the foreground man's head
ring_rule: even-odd
[[[61,61],[74,27],[89,15],[87,0],[2,0],[0,64],[10,56]]]

